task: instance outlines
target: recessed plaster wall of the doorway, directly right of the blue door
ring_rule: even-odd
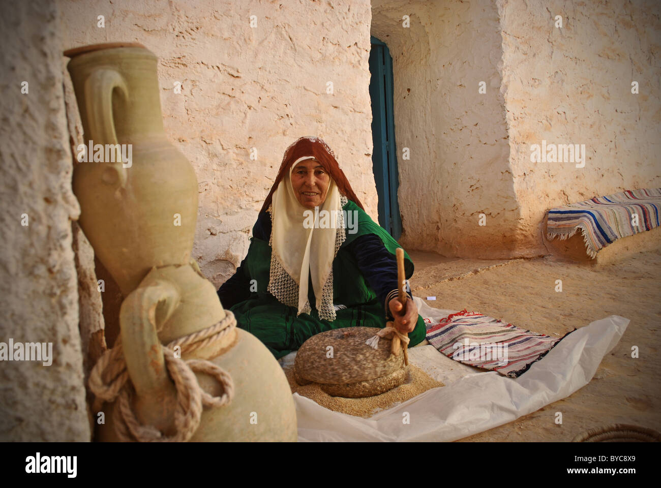
[[[403,245],[461,257],[526,255],[499,92],[496,6],[374,0],[371,32],[393,56]]]

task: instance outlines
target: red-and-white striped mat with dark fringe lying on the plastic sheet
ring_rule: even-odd
[[[425,322],[427,340],[445,356],[510,378],[524,374],[561,340],[465,309],[439,323]]]

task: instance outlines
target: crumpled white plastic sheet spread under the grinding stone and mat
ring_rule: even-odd
[[[415,300],[423,317],[438,319],[453,313]],[[445,387],[425,391],[369,419],[325,409],[295,393],[299,440],[451,441],[510,423],[588,384],[628,324],[629,319],[618,315],[594,321],[570,333],[516,379],[496,372],[473,373],[473,368],[461,365],[465,367],[459,368],[459,374],[455,371],[454,376],[446,376]],[[432,346],[424,347],[428,350]],[[436,354],[439,370],[459,364],[438,351]],[[428,352],[411,354],[411,362],[427,370],[432,357]],[[454,380],[447,383],[447,378]]]

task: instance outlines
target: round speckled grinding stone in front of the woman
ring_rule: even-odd
[[[294,377],[299,385],[317,383],[332,396],[379,395],[405,382],[404,356],[390,353],[391,340],[379,339],[376,349],[366,341],[377,327],[345,327],[319,333],[299,348]],[[332,346],[332,357],[328,357]],[[330,354],[329,354],[330,355]]]

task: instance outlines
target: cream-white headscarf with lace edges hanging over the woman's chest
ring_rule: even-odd
[[[303,206],[293,189],[292,172],[298,163],[306,159],[314,159],[314,156],[297,159],[290,167],[289,175],[280,181],[273,193],[268,291],[281,303],[297,308],[297,315],[310,313],[307,298],[310,276],[319,317],[333,321],[336,315],[332,304],[332,262],[346,239],[342,216],[342,204],[346,203],[346,198],[340,196],[331,178],[319,213],[316,209]],[[331,210],[339,212],[331,213],[334,218],[327,221],[329,225],[324,225],[326,228],[321,228],[319,216],[323,215],[323,211],[330,213]]]

